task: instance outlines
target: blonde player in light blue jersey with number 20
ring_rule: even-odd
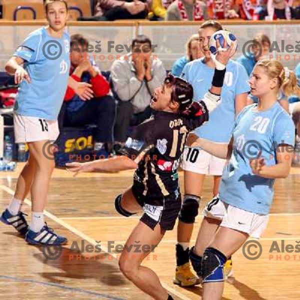
[[[259,238],[268,222],[275,178],[289,174],[294,147],[294,124],[277,102],[284,94],[298,93],[295,74],[276,60],[258,61],[249,80],[258,103],[246,106],[236,117],[229,144],[189,136],[188,144],[200,146],[221,158],[229,158],[219,194],[210,201],[206,217],[220,216],[218,229],[204,253],[196,240],[190,259],[202,277],[204,300],[221,299],[223,265],[249,236]]]

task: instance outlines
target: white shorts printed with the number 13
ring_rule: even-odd
[[[55,141],[59,135],[57,120],[45,120],[35,116],[13,114],[16,143],[39,140]]]

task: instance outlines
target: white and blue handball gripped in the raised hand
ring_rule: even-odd
[[[216,46],[216,40],[217,39],[219,40],[220,46],[222,48],[224,48],[224,40],[226,40],[226,42],[227,42],[227,48],[229,48],[230,45],[233,43],[233,48],[231,50],[230,57],[235,54],[236,49],[237,49],[237,39],[236,39],[236,36],[233,33],[231,33],[228,30],[215,31],[210,36],[210,39],[209,39],[209,42],[208,42],[208,48],[209,48],[209,51],[212,54],[216,54],[216,52],[217,52],[217,46]]]

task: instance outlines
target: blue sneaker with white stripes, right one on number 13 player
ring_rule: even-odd
[[[56,234],[53,229],[49,228],[47,223],[45,223],[39,232],[28,229],[25,235],[25,241],[34,245],[63,245],[67,243],[67,238]]]

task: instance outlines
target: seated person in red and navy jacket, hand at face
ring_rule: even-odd
[[[94,149],[98,151],[112,142],[115,101],[110,95],[108,81],[101,75],[95,62],[85,59],[87,45],[88,41],[82,35],[71,36],[70,75],[76,81],[90,83],[94,97],[83,101],[70,87],[67,87],[64,97],[66,102],[64,125],[77,127],[96,123]]]

